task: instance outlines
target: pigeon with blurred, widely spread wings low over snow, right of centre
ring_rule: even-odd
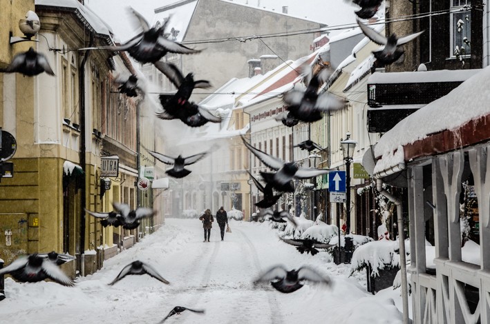
[[[276,265],[258,276],[254,283],[270,282],[272,287],[274,287],[276,290],[288,294],[303,287],[303,283],[301,283],[301,281],[324,283],[326,285],[331,284],[328,276],[323,276],[316,270],[306,265],[299,267],[298,270],[293,269],[290,271],[286,270],[283,265]]]

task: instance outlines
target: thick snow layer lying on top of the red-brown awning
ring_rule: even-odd
[[[451,79],[448,72],[443,73]],[[415,73],[423,75],[428,72]],[[473,119],[489,115],[489,83],[490,67],[487,67],[446,96],[420,108],[381,136],[375,147],[375,156],[389,156],[400,145],[415,143],[444,130],[456,130]],[[377,163],[384,161],[381,159]]]

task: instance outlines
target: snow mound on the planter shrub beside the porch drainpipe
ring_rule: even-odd
[[[350,272],[370,266],[371,276],[379,276],[379,270],[385,267],[398,267],[398,241],[373,241],[357,247],[350,261]]]

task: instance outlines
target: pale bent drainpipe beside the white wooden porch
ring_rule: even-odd
[[[406,258],[405,258],[405,238],[404,238],[404,225],[403,225],[403,207],[402,199],[393,196],[390,192],[387,192],[383,188],[383,181],[376,179],[376,190],[395,203],[397,206],[397,223],[398,223],[398,241],[400,252],[400,272],[402,273],[402,311],[403,311],[403,323],[408,324],[408,285],[406,282]]]

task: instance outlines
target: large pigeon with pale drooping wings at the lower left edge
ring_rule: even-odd
[[[38,254],[21,256],[10,265],[0,270],[0,276],[10,274],[17,281],[23,283],[37,283],[44,279],[50,279],[64,286],[73,286],[75,283],[50,261],[47,257]]]

